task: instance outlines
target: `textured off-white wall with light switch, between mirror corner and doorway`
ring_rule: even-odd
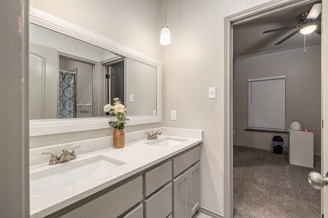
[[[163,126],[203,130],[201,204],[223,214],[223,18],[269,1],[168,0]],[[216,99],[208,98],[216,87]],[[170,111],[177,120],[171,121]]]

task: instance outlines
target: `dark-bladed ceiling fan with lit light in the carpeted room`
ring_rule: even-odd
[[[284,37],[280,41],[278,41],[275,46],[280,45],[282,42],[285,40],[289,39],[296,33],[300,32],[301,34],[310,34],[312,32],[316,32],[319,35],[321,35],[321,3],[315,4],[312,6],[310,11],[306,11],[296,17],[297,20],[297,25],[296,26],[291,26],[291,27],[283,27],[283,28],[278,28],[278,29],[273,29],[273,30],[267,30],[264,31],[263,33],[271,33],[271,32],[276,32],[280,30],[288,30],[288,29],[293,29],[293,28],[298,28],[296,31],[293,33],[289,34],[288,36]]]

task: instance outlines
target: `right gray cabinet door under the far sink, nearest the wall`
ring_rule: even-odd
[[[200,207],[200,162],[195,164],[189,171],[188,185],[189,185],[189,204],[190,215],[192,217]]]

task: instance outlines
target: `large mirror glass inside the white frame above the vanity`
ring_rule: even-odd
[[[30,24],[30,120],[104,117],[116,97],[156,115],[156,68]]]

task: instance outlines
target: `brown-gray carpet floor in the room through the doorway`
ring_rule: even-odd
[[[320,217],[320,190],[309,185],[314,168],[291,165],[288,154],[234,146],[234,217]]]

